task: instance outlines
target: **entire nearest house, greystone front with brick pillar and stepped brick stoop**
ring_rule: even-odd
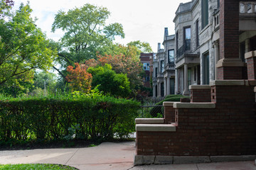
[[[176,88],[191,101],[164,102],[164,118],[136,120],[135,165],[256,159],[255,20],[255,1],[180,4]]]

